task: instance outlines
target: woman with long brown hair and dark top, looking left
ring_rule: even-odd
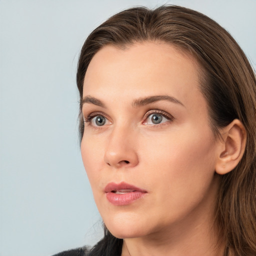
[[[86,39],[77,87],[105,235],[63,255],[256,255],[255,74],[221,26],[124,10]]]

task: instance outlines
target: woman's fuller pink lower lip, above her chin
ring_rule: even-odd
[[[116,194],[114,192],[107,192],[106,198],[114,205],[126,205],[144,196],[144,192],[133,191],[125,194]]]

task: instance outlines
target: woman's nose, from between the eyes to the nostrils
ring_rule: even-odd
[[[104,152],[104,162],[112,167],[134,167],[138,164],[136,136],[127,127],[114,127]]]

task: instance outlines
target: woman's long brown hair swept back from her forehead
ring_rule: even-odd
[[[199,63],[200,90],[209,124],[219,139],[219,128],[239,119],[246,130],[245,151],[239,164],[219,175],[214,227],[224,255],[256,255],[256,79],[245,54],[219,24],[197,11],[163,5],[156,9],[123,10],[94,29],[84,42],[77,67],[82,99],[83,80],[94,54],[107,44],[125,48],[144,41],[166,42],[191,54]],[[80,106],[81,110],[81,106]],[[80,115],[80,136],[83,134]],[[216,174],[218,175],[218,174]],[[120,255],[122,239],[105,229],[90,255]]]

